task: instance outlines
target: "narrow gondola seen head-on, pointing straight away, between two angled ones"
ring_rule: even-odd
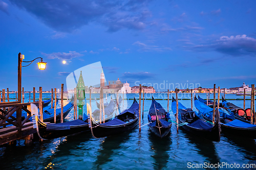
[[[172,120],[170,119],[170,114],[165,111],[165,109],[155,101],[152,96],[152,103],[150,110],[147,115],[148,127],[151,132],[156,136],[163,138],[170,132],[172,127]]]

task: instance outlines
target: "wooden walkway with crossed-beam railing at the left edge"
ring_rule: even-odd
[[[33,102],[38,105],[39,102]],[[29,122],[31,112],[28,106],[31,103],[2,102],[0,103],[0,145],[17,139],[25,139],[36,133],[33,123]],[[22,117],[22,110],[27,112],[27,117]],[[16,113],[16,116],[13,114]]]

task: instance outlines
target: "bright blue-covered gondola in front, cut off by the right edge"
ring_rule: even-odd
[[[209,122],[212,121],[213,109],[199,102],[196,97],[195,107],[199,110],[199,113],[202,114],[203,118]],[[222,115],[220,123],[222,133],[256,139],[256,125],[247,124],[238,119],[231,119],[230,115],[224,113],[221,109],[217,110],[216,108],[216,112],[217,111]]]

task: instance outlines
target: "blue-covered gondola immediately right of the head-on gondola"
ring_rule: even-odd
[[[176,117],[177,106],[174,97],[172,101],[172,110],[174,116]],[[191,132],[197,136],[210,139],[212,141],[220,141],[219,122],[217,122],[215,125],[212,125],[211,123],[203,119],[198,112],[193,111],[190,108],[186,108],[180,102],[178,114],[179,124],[184,124],[183,126],[181,126],[181,128],[183,128],[184,130]]]

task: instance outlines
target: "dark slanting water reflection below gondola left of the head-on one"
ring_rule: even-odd
[[[100,139],[100,146],[97,152],[97,158],[94,162],[97,165],[97,169],[102,168],[101,165],[111,162],[113,159],[111,156],[114,154],[115,150],[121,148],[121,143],[128,141],[131,137],[130,132],[125,132],[115,136],[108,136]]]

